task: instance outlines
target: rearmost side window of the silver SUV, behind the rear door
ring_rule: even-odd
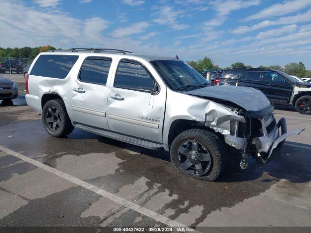
[[[30,74],[65,79],[78,58],[77,55],[40,55]]]

